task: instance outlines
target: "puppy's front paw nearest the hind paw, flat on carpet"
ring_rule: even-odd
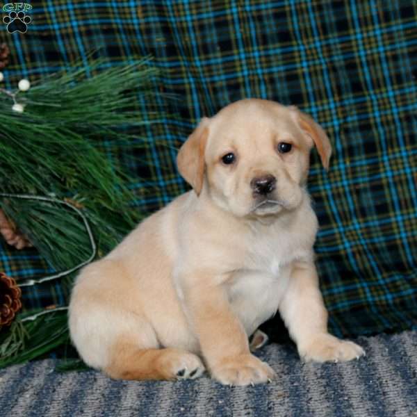
[[[242,354],[223,359],[211,369],[211,375],[224,385],[249,385],[268,382],[275,372],[252,354]]]

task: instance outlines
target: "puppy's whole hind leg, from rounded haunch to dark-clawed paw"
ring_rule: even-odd
[[[132,284],[120,263],[86,267],[70,302],[70,332],[89,366],[116,379],[196,378],[202,361],[185,350],[160,349],[152,323],[129,301]]]

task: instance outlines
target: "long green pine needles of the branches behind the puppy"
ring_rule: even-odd
[[[95,60],[88,69],[74,66],[17,92],[23,113],[0,92],[0,193],[65,200],[85,216],[98,255],[110,251],[141,217],[131,206],[130,179],[119,156],[145,143],[138,131],[146,122],[136,104],[154,95],[155,76],[146,59],[117,67]],[[54,270],[69,270],[91,256],[85,224],[70,206],[3,195],[0,207]],[[67,298],[75,273],[59,278]],[[38,311],[24,311],[1,329],[0,368],[68,343],[67,311],[60,307],[35,318]]]

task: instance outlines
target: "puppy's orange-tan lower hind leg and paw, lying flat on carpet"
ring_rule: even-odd
[[[204,372],[204,365],[185,350],[141,349],[130,336],[120,336],[104,372],[115,379],[195,379]]]

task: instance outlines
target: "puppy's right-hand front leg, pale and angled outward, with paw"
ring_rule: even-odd
[[[327,310],[313,263],[294,263],[279,312],[300,357],[306,361],[350,361],[365,354],[355,343],[341,341],[327,332]]]

